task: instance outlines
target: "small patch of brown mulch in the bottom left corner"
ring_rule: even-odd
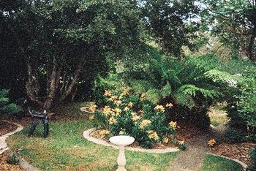
[[[7,163],[8,156],[10,156],[10,152],[8,151],[5,151],[4,153],[0,154],[0,170],[21,171],[22,169],[19,165]]]

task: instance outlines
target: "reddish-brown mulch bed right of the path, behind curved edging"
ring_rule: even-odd
[[[211,148],[211,153],[227,156],[231,159],[238,159],[245,164],[251,164],[249,159],[249,149],[255,147],[251,142],[243,142],[237,144],[230,144],[223,142],[214,148]]]

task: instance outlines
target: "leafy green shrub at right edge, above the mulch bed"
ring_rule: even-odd
[[[230,126],[246,132],[249,140],[256,141],[256,67],[249,73],[251,75],[244,75],[232,98],[227,100],[227,112]]]

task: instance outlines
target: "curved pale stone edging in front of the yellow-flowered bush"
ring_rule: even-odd
[[[106,142],[105,140],[99,140],[95,137],[91,137],[90,134],[91,132],[95,131],[95,128],[88,129],[85,132],[83,132],[83,137],[86,138],[86,140],[89,140],[91,142],[94,142],[98,145],[105,145],[108,147],[113,147],[118,149],[118,146],[112,145],[109,142]],[[178,148],[165,148],[165,149],[145,149],[145,148],[132,148],[132,147],[127,147],[125,148],[129,151],[138,151],[138,152],[147,152],[147,153],[170,153],[170,152],[176,152],[179,151]]]

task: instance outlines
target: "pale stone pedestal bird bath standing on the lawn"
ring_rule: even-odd
[[[110,137],[110,142],[114,145],[117,145],[119,148],[119,154],[117,158],[118,169],[117,171],[125,171],[125,154],[124,147],[132,144],[135,141],[134,137],[126,136],[126,135],[118,135],[114,137]]]

